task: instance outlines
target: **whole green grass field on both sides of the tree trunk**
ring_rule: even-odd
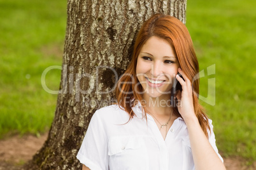
[[[47,131],[57,95],[41,86],[43,70],[61,65],[66,29],[66,1],[0,0],[0,138]],[[225,157],[256,160],[256,1],[187,2],[187,27],[201,70],[215,64],[216,95],[201,79],[202,101],[213,119],[218,149]],[[60,70],[46,75],[57,90]],[[211,87],[214,88],[214,87]],[[250,163],[250,162],[249,162]]]

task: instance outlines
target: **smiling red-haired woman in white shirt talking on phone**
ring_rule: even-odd
[[[198,72],[185,25],[162,14],[147,20],[118,81],[117,105],[90,121],[77,155],[83,169],[225,169],[197,98]],[[182,90],[171,100],[175,78]]]

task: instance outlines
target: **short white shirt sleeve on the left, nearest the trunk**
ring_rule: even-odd
[[[108,141],[103,123],[96,111],[92,115],[83,143],[76,155],[91,170],[108,169]]]

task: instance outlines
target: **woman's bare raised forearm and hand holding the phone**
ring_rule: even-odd
[[[180,68],[178,72],[185,80],[183,81],[179,75],[176,75],[176,79],[182,86],[182,92],[179,91],[176,96],[178,99],[178,110],[187,125],[195,167],[196,169],[225,169],[224,164],[218,158],[215,150],[213,150],[196,117],[193,105],[192,83]]]

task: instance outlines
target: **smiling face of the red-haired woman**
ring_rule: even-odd
[[[169,98],[178,67],[178,58],[169,42],[156,36],[150,37],[141,48],[136,66],[143,98]]]

